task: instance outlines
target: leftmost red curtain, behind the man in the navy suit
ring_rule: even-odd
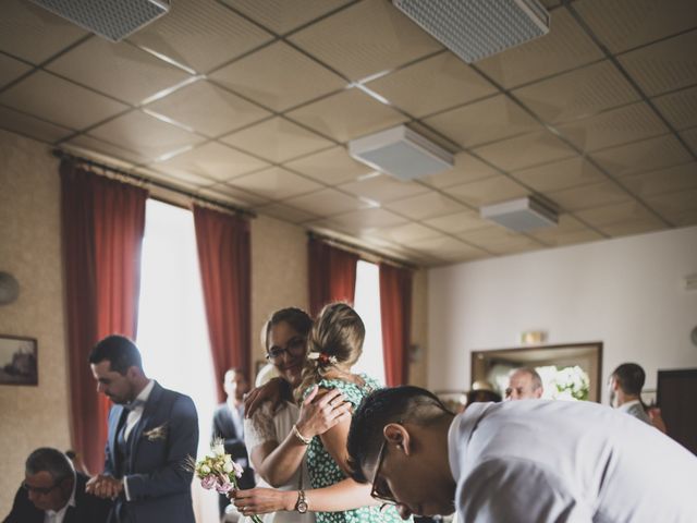
[[[136,336],[147,191],[61,162],[63,265],[74,448],[101,471],[109,401],[87,358],[111,333]]]

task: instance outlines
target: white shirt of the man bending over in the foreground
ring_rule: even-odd
[[[461,523],[697,522],[697,457],[607,406],[474,403],[448,439]]]

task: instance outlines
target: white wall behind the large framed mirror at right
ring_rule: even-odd
[[[428,386],[467,389],[472,351],[545,330],[547,344],[602,341],[603,376],[634,361],[655,388],[659,368],[697,367],[690,273],[697,227],[431,269]]]

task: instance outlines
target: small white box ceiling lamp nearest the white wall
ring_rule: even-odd
[[[515,232],[552,227],[559,222],[557,209],[534,196],[487,205],[479,212],[482,218]]]

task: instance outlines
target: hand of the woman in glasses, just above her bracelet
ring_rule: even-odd
[[[305,438],[320,436],[338,423],[351,418],[351,403],[344,401],[344,397],[338,389],[320,392],[318,387],[307,394],[301,405],[301,414],[297,418],[297,430]]]

